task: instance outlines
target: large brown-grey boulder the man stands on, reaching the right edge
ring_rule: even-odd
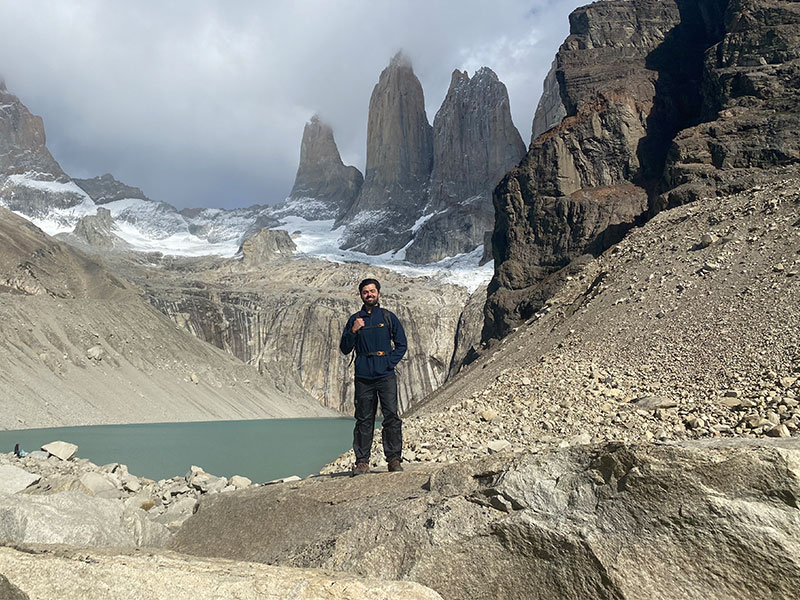
[[[408,579],[453,599],[800,597],[800,440],[412,469],[208,498],[171,547]]]

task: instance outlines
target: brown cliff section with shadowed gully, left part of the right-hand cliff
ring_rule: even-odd
[[[570,15],[537,110],[540,135],[495,191],[484,338],[535,312],[530,299],[548,274],[644,217],[672,140],[708,104],[704,52],[722,37],[725,5],[619,0]]]

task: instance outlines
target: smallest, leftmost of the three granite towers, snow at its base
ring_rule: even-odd
[[[361,172],[342,162],[333,130],[314,115],[303,130],[300,166],[286,210],[308,219],[339,219],[350,210],[363,183]]]

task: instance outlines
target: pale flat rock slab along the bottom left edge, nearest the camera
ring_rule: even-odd
[[[0,548],[11,598],[23,600],[436,600],[419,584],[310,569],[208,560],[167,552]],[[0,576],[0,592],[5,588]],[[25,595],[27,594],[27,595]],[[6,598],[6,596],[3,596]]]

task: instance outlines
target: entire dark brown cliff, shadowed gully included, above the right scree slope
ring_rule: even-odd
[[[540,135],[495,192],[484,338],[533,314],[540,305],[529,300],[549,273],[603,251],[654,211],[698,198],[698,181],[707,187],[739,164],[796,160],[797,12],[767,0],[615,0],[572,13],[537,110]],[[732,70],[736,60],[747,66]],[[747,120],[697,125],[730,104],[726,93],[751,105],[756,88],[762,116],[774,111],[759,133],[776,131],[765,146],[758,136],[741,142],[755,126]],[[723,119],[736,119],[727,110]],[[728,146],[716,139],[726,136]]]

